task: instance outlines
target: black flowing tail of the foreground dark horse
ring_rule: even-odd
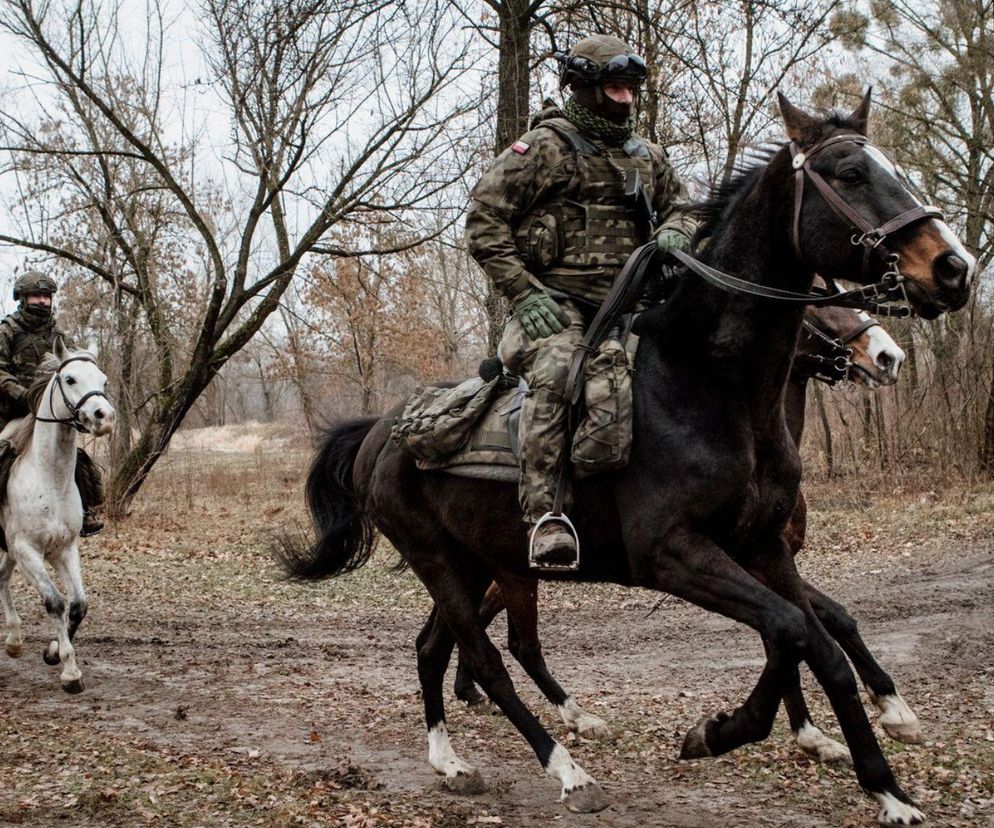
[[[284,534],[275,550],[291,578],[319,581],[351,572],[373,553],[376,530],[356,497],[352,465],[376,422],[367,418],[332,426],[320,440],[306,484],[317,540]]]

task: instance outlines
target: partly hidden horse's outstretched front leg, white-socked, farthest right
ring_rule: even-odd
[[[856,620],[845,607],[811,584],[805,584],[805,593],[818,615],[818,620],[852,660],[870,695],[870,700],[880,710],[880,726],[892,739],[908,744],[919,744],[923,737],[918,716],[901,698],[894,686],[894,680],[887,675],[867,649],[860,637]]]

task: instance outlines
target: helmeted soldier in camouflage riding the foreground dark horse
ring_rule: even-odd
[[[466,218],[470,253],[512,307],[543,291],[570,317],[563,331],[532,339],[512,313],[499,349],[508,370],[531,388],[521,412],[519,491],[531,524],[552,511],[560,471],[566,471],[566,372],[586,321],[631,252],[648,241],[650,224],[676,229],[685,239],[694,227],[680,212],[685,190],[665,150],[634,134],[632,96],[618,103],[604,89],[641,85],[641,58],[607,35],[586,38],[557,57],[562,86],[573,96],[562,109],[541,112],[498,156],[474,187]],[[649,221],[639,201],[651,208]],[[563,516],[570,502],[565,475],[563,488],[562,513],[553,516]],[[552,526],[542,534],[556,531]]]

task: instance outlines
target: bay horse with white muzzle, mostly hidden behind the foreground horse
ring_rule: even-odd
[[[847,380],[867,388],[891,385],[897,381],[905,359],[904,351],[891,336],[864,311],[852,308],[809,308],[804,315],[801,336],[787,383],[784,413],[787,429],[800,447],[804,429],[808,383],[820,380],[835,384]],[[798,494],[787,527],[787,538],[796,555],[804,544],[806,504]],[[508,611],[508,649],[524,667],[543,695],[556,707],[571,730],[588,738],[607,736],[610,729],[598,716],[583,710],[553,677],[545,663],[538,636],[538,582],[534,577],[500,573],[487,589],[480,606],[480,619],[489,626],[502,611]],[[819,596],[822,601],[829,599]],[[902,742],[921,741],[918,718],[894,687],[893,680],[872,658],[859,637],[855,621],[835,604],[825,604],[831,612],[833,635],[856,664],[870,698],[881,711],[880,724],[891,738]],[[824,623],[824,621],[823,621]],[[470,706],[482,704],[465,659],[459,659],[453,689],[456,698]],[[798,746],[821,762],[851,762],[848,749],[825,736],[814,725],[800,685],[784,695],[784,705]]]

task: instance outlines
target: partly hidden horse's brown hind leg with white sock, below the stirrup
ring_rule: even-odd
[[[542,694],[559,711],[566,726],[581,736],[611,735],[607,723],[585,712],[549,671],[538,637],[538,581],[501,574],[498,578],[507,605],[507,644]]]

